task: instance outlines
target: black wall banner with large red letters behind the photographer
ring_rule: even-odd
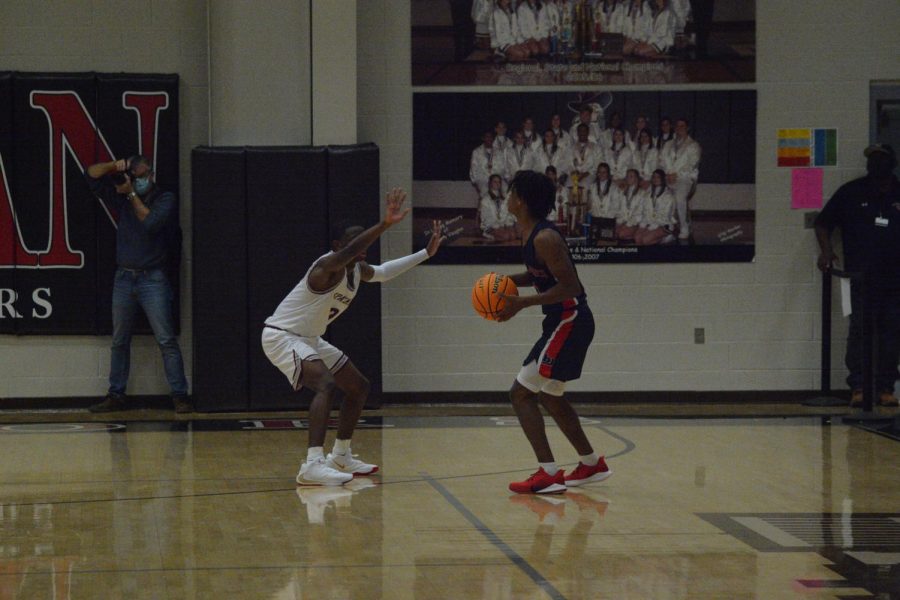
[[[0,73],[0,334],[111,332],[118,214],[82,173],[134,154],[177,196],[177,75]]]

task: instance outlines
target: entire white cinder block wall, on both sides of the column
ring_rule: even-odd
[[[356,4],[358,141],[381,147],[384,191],[393,185],[410,189],[409,4]],[[869,82],[900,79],[900,3],[858,0],[852,10],[836,1],[756,4],[757,83],[740,86],[758,91],[756,261],[581,267],[599,327],[584,377],[574,390],[818,385],[816,246],[812,231],[802,227],[802,215],[789,209],[789,170],[773,166],[775,131],[791,126],[839,129],[840,167],[826,170],[826,194],[862,173]],[[0,2],[0,69],[181,76],[180,192],[186,232],[182,350],[188,370],[190,149],[209,138],[207,6],[207,0],[148,0],[135,18],[124,16],[132,5],[115,0]],[[299,131],[308,134],[303,126]],[[383,254],[402,255],[410,244],[407,222],[389,233]],[[470,286],[491,268],[420,267],[384,287],[386,391],[508,388],[540,316],[531,310],[504,325],[475,317]],[[705,345],[693,344],[694,327],[706,328]],[[836,386],[844,376],[840,358],[845,332],[838,322]],[[108,338],[0,336],[0,399],[102,395],[108,343]],[[133,352],[129,391],[165,393],[152,340],[136,339]]]

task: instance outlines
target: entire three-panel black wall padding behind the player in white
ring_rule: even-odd
[[[318,257],[329,225],[378,222],[378,148],[197,148],[193,153],[193,395],[200,410],[309,406],[262,350],[263,323]],[[380,262],[378,245],[368,260]],[[381,290],[362,284],[326,339],[381,391]]]

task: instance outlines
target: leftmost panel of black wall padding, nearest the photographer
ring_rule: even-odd
[[[250,389],[243,148],[196,148],[193,189],[193,395],[197,409],[243,410]]]

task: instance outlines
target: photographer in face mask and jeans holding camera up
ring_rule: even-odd
[[[125,387],[138,306],[147,315],[162,352],[175,412],[193,410],[175,337],[172,288],[164,270],[172,233],[178,225],[178,204],[174,194],[156,187],[153,177],[153,167],[144,156],[98,163],[85,171],[91,191],[119,211],[109,391],[103,402],[90,407],[91,412],[127,407]]]

